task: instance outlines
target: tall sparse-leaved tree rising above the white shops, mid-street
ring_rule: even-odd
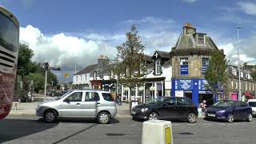
[[[126,41],[116,48],[118,53],[114,60],[116,62],[114,74],[118,75],[118,82],[130,89],[134,88],[138,82],[142,82],[142,77],[146,74],[145,46],[136,26],[131,26],[130,31],[126,33]]]

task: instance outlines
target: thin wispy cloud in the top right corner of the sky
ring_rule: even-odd
[[[239,8],[246,14],[256,15],[256,3],[254,2],[238,2]]]

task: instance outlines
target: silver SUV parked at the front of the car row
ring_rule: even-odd
[[[55,122],[58,117],[84,117],[106,124],[116,114],[114,99],[103,90],[71,90],[55,100],[40,102],[36,108],[36,115],[46,122]]]

